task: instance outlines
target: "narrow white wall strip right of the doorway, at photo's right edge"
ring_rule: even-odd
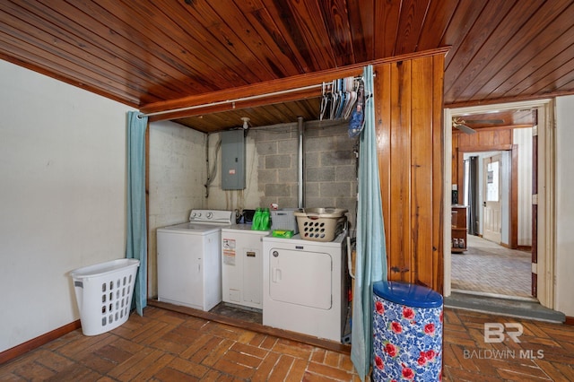
[[[556,310],[574,317],[574,96],[556,100]]]

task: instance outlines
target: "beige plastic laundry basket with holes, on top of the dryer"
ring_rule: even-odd
[[[341,208],[305,208],[294,213],[301,239],[313,241],[333,241],[347,223],[344,215],[347,210]]]

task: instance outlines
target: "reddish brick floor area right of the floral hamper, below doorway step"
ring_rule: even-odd
[[[485,323],[520,324],[520,342],[487,343]],[[574,326],[445,309],[444,329],[443,380],[574,381]]]

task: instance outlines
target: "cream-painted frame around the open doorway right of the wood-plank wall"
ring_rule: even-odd
[[[546,308],[555,306],[554,277],[556,262],[556,139],[554,132],[554,100],[529,100],[498,105],[484,105],[461,109],[444,109],[444,193],[445,211],[451,205],[450,183],[452,179],[452,116],[453,114],[481,113],[492,109],[537,109],[538,111],[538,196],[537,196],[537,228],[536,248],[538,265],[536,265],[538,300]],[[448,227],[450,215],[443,214],[443,224]],[[444,242],[450,242],[450,230],[443,231]],[[444,265],[444,296],[451,294],[452,256],[448,246],[443,247]],[[533,270],[534,271],[534,270]]]

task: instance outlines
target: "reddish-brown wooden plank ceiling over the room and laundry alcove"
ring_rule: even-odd
[[[574,93],[574,0],[4,0],[0,58],[143,111],[449,47],[446,106]],[[222,92],[223,91],[223,92]],[[238,91],[239,92],[239,91]],[[160,118],[317,119],[320,90]],[[232,99],[231,96],[229,99]],[[492,118],[496,119],[496,118]]]

